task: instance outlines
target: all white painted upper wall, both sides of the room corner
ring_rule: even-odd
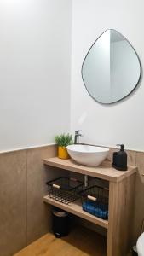
[[[142,80],[124,101],[104,106],[81,78],[84,56],[107,28],[128,38],[144,63],[143,8],[142,0],[1,0],[0,150],[53,143],[69,131],[71,39],[72,132],[82,129],[84,143],[143,150]]]

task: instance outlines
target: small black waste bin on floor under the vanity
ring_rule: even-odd
[[[70,216],[57,207],[52,208],[52,230],[56,237],[67,236],[70,230]]]

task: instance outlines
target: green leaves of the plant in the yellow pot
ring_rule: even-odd
[[[73,144],[72,134],[65,134],[62,133],[60,135],[55,135],[55,143],[58,144],[60,147],[66,147],[68,145]]]

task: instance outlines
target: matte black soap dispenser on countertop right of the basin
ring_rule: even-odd
[[[124,151],[124,144],[118,144],[120,150],[113,153],[112,167],[119,171],[127,171],[127,154]]]

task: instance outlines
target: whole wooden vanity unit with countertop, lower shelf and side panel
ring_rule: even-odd
[[[84,212],[79,201],[65,205],[49,198],[49,195],[44,196],[44,201],[107,229],[107,256],[126,256],[131,248],[137,167],[129,166],[128,171],[120,172],[112,168],[108,160],[101,166],[82,166],[71,159],[61,160],[57,157],[44,160],[44,164],[107,180],[109,183],[108,221]]]

